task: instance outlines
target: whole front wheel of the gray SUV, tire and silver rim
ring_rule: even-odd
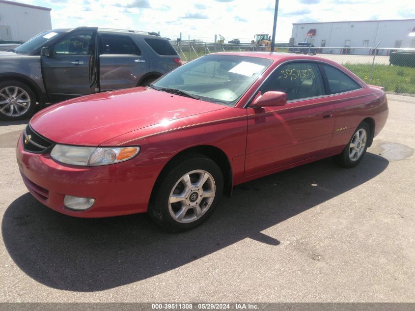
[[[36,99],[28,85],[19,81],[0,83],[0,118],[21,120],[31,116],[36,108]]]

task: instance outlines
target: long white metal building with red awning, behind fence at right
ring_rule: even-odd
[[[290,42],[315,47],[415,48],[415,19],[293,24]]]

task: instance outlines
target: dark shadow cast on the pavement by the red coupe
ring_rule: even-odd
[[[17,266],[37,282],[99,291],[159,275],[247,237],[278,247],[261,231],[365,183],[388,163],[367,153],[347,170],[325,159],[236,186],[205,224],[178,234],[161,231],[145,214],[72,218],[27,193],[6,209],[2,236]]]

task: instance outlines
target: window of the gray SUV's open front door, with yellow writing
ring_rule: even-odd
[[[91,55],[94,50],[92,32],[78,32],[55,43],[55,55]]]

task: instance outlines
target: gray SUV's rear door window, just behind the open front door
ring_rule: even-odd
[[[101,37],[100,54],[141,55],[140,49],[129,36],[104,33]]]

